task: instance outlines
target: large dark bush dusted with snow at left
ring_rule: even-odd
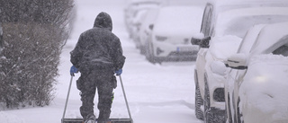
[[[73,0],[0,0],[3,51],[0,103],[44,106],[53,99],[59,55],[68,38]]]

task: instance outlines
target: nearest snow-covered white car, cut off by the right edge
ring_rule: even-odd
[[[288,122],[287,28],[288,22],[255,27],[225,62],[232,68],[227,75],[229,122]]]

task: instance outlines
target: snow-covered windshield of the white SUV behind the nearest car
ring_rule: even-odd
[[[244,38],[245,32],[255,24],[288,22],[288,7],[251,7],[229,10],[218,15],[214,35],[236,35]]]

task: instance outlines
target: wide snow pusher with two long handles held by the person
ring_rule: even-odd
[[[121,88],[122,88],[122,92],[124,95],[124,99],[126,102],[126,107],[127,107],[130,119],[109,119],[109,121],[107,123],[133,123],[133,119],[131,118],[131,115],[130,115],[130,109],[129,109],[128,101],[126,98],[126,93],[124,91],[124,85],[122,83],[121,75],[119,75],[119,78],[120,78]],[[65,119],[65,113],[66,113],[66,109],[67,109],[67,102],[68,102],[68,98],[69,98],[69,94],[70,94],[72,80],[73,80],[73,76],[71,75],[71,79],[70,79],[70,83],[69,83],[69,87],[68,87],[68,92],[67,92],[67,98],[66,98],[66,102],[65,102],[65,108],[64,108],[62,119],[61,119],[61,123],[84,123],[83,119]]]

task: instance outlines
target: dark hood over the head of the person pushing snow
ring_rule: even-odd
[[[106,28],[112,31],[112,19],[108,13],[101,12],[94,21],[94,27]]]

